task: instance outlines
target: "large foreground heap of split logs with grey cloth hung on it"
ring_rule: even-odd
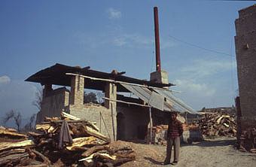
[[[34,165],[35,167],[50,165],[100,167],[117,166],[135,159],[131,147],[120,141],[110,142],[109,138],[99,133],[99,129],[93,123],[79,120],[69,114],[62,113],[62,119],[45,117],[44,122],[37,124],[35,129],[43,133],[29,132],[32,140],[25,140],[26,145],[22,152],[26,153],[26,157],[20,154],[15,164],[13,159],[9,160],[10,158],[6,157],[14,150],[8,150],[8,144],[5,147],[0,144],[0,151],[8,151],[5,154],[0,152],[0,158],[3,155],[8,159],[5,162],[0,159],[0,165],[13,166],[23,163],[23,159],[30,159],[29,166],[32,166],[32,160],[34,160],[33,164],[35,161],[41,162]],[[21,152],[19,149],[16,152]],[[23,163],[23,166],[26,164]]]

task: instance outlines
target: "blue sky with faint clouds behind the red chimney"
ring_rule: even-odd
[[[32,101],[40,84],[24,80],[56,62],[149,80],[155,71],[154,6],[161,67],[177,85],[172,90],[182,92],[175,96],[196,110],[231,106],[238,96],[234,21],[250,5],[254,2],[2,0],[0,116],[11,109],[24,117],[36,113]]]

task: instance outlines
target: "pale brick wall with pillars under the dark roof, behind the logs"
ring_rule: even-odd
[[[114,83],[105,86],[105,96],[109,99],[117,98],[117,87]],[[117,110],[116,102],[105,102],[101,105],[84,105],[84,77],[74,75],[71,79],[71,91],[65,87],[53,90],[51,84],[44,89],[41,111],[37,114],[36,123],[43,121],[44,117],[60,117],[61,112],[72,114],[75,117],[96,123],[100,132],[111,138],[117,139]]]

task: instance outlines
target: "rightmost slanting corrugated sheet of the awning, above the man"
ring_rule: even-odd
[[[161,96],[169,99],[171,102],[173,102],[175,105],[177,105],[179,108],[184,109],[185,111],[189,112],[190,114],[200,114],[197,111],[194,111],[193,108],[186,105],[184,102],[182,102],[181,99],[178,99],[177,97],[173,96],[172,93],[170,93],[168,90],[157,90],[153,89],[157,93],[159,93]]]

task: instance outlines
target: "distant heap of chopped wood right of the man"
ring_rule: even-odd
[[[236,136],[236,121],[234,118],[219,112],[213,114],[205,114],[205,116],[199,120],[199,126],[202,135]]]

